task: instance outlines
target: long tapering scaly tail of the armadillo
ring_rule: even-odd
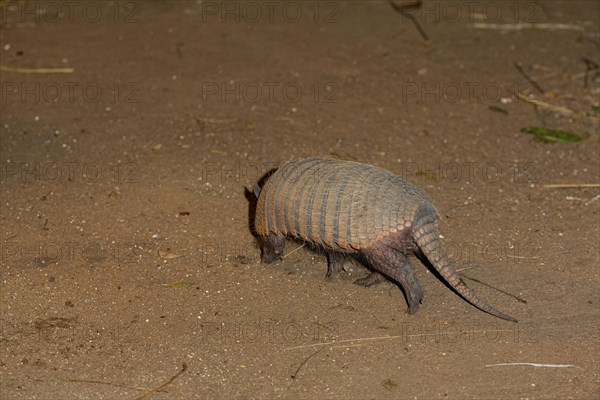
[[[439,272],[439,274],[456,290],[465,300],[486,313],[507,321],[517,322],[510,315],[504,314],[486,304],[475,294],[461,276],[452,268],[442,247],[442,241],[437,228],[437,214],[435,210],[419,210],[416,222],[413,225],[413,237],[417,246],[425,257]]]

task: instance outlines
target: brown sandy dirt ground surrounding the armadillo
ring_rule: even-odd
[[[598,188],[544,186],[600,182],[600,3],[0,4],[3,400],[600,397]],[[309,155],[422,187],[519,323],[262,265],[245,190]]]

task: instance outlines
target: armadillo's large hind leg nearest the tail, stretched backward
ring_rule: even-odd
[[[423,300],[423,290],[406,255],[385,245],[362,250],[361,253],[373,270],[402,286],[408,303],[408,313],[416,313]]]

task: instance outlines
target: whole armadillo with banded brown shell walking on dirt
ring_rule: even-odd
[[[356,257],[372,272],[357,284],[392,280],[403,289],[409,314],[423,300],[423,291],[407,256],[423,256],[465,300],[498,318],[517,322],[486,304],[452,268],[438,230],[439,214],[417,186],[384,169],[335,158],[287,162],[261,188],[254,229],[262,261],[283,256],[287,237],[324,250],[327,276]]]

